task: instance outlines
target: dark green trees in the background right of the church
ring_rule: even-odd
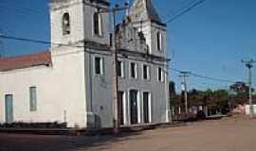
[[[181,106],[184,108],[184,92],[170,95],[171,104],[174,108]],[[253,96],[256,103],[256,95]],[[229,110],[237,105],[248,103],[248,87],[246,83],[236,82],[229,87],[229,90],[191,90],[188,92],[188,105],[191,107],[207,107],[208,109]]]

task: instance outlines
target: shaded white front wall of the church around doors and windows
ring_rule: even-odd
[[[86,54],[85,69],[87,69],[86,90],[87,103],[91,102],[90,111],[97,117],[97,126],[110,127],[113,126],[113,57],[108,52],[100,52],[95,50],[92,54]],[[95,52],[95,53],[94,53]],[[97,53],[96,53],[97,52]],[[95,57],[101,57],[104,61],[103,75],[95,76],[93,68],[93,60]],[[90,59],[91,58],[91,59]],[[89,61],[91,60],[91,63]],[[123,98],[123,115],[124,125],[131,126],[131,109],[130,109],[130,91],[136,90],[137,93],[137,118],[138,124],[143,124],[143,97],[142,92],[150,92],[151,98],[151,124],[170,122],[170,117],[167,117],[169,110],[169,98],[168,98],[168,76],[166,69],[166,62],[146,60],[141,57],[124,58],[119,56],[119,60],[123,62],[124,77],[119,77],[119,91],[124,92]],[[137,79],[130,77],[130,62],[137,63]],[[150,66],[150,80],[145,80],[142,77],[142,65],[147,64]],[[91,66],[91,67],[90,67]],[[157,80],[157,68],[163,68],[164,80],[159,82]],[[92,68],[91,74],[89,69]],[[91,82],[91,86],[89,84]],[[91,91],[91,92],[90,92]]]

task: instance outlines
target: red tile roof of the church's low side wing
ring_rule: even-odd
[[[28,68],[39,65],[50,65],[51,55],[49,51],[28,54],[24,56],[0,58],[0,72]]]

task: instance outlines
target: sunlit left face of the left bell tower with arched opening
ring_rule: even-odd
[[[71,44],[84,40],[85,18],[83,16],[82,0],[71,0],[66,3],[51,4],[50,29],[51,47],[58,47],[58,43]],[[70,34],[63,35],[63,16],[69,14]],[[55,44],[56,43],[56,44]]]

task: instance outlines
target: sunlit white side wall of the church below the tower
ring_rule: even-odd
[[[68,126],[85,126],[83,52],[55,53],[52,56],[52,67],[38,66],[0,73],[0,123],[5,122],[5,95],[13,94],[15,122],[62,123],[66,116]],[[29,110],[31,86],[37,88],[36,111]]]

